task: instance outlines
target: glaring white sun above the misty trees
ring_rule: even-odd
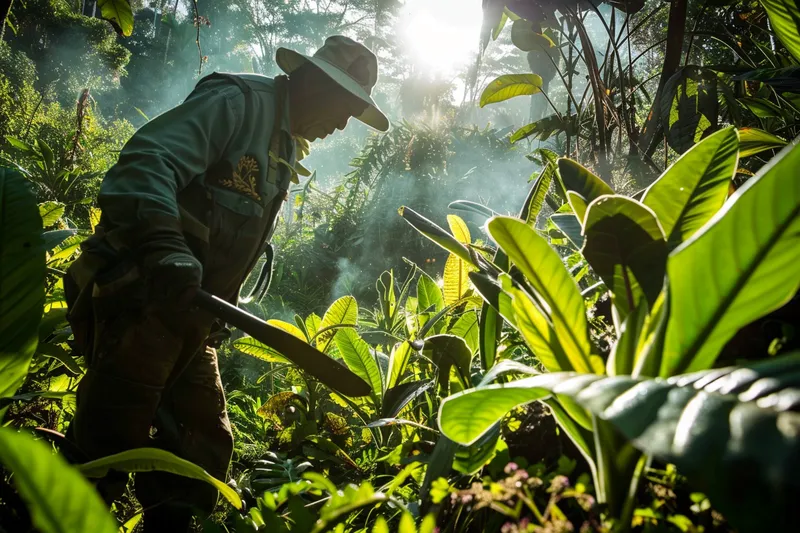
[[[400,34],[411,60],[429,76],[450,77],[475,56],[480,0],[407,0]]]

